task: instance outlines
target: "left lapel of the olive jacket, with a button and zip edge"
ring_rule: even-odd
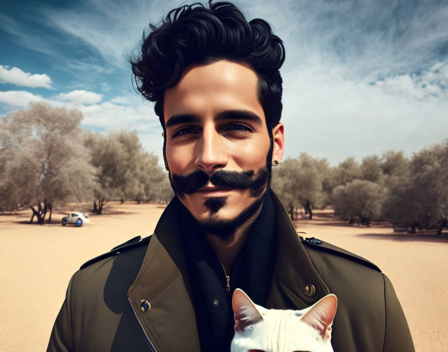
[[[157,223],[128,290],[136,314],[159,352],[199,351],[178,218],[177,200],[173,199]],[[139,309],[142,299],[151,305],[147,313]]]

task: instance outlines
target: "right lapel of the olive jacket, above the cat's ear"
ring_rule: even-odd
[[[275,206],[277,252],[267,308],[303,309],[325,296],[329,290],[300,243],[283,204],[273,191],[270,191],[270,196]]]

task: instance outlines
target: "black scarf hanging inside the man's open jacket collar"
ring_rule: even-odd
[[[180,223],[201,351],[228,352],[234,334],[231,298],[235,288],[244,290],[256,304],[266,304],[275,261],[275,209],[272,199],[266,192],[245,246],[230,272],[227,272],[230,276],[228,294],[219,259],[183,206]]]

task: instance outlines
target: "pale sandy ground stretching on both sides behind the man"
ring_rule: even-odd
[[[0,349],[45,350],[65,289],[80,264],[135,235],[152,233],[163,206],[107,204],[82,227],[28,225],[29,211],[0,215]],[[71,211],[74,209],[67,208]],[[82,211],[82,208],[80,209]],[[448,236],[347,226],[322,213],[297,229],[355,252],[392,281],[418,352],[448,350]]]

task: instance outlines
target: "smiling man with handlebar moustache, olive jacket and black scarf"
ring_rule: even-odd
[[[283,155],[281,40],[231,3],[172,10],[131,60],[163,127],[176,196],[154,234],[81,266],[49,351],[228,351],[230,299],[267,308],[338,297],[334,351],[412,351],[391,283],[367,260],[297,236],[269,189]]]

